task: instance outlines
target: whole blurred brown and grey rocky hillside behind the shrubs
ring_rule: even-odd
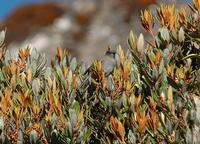
[[[31,4],[16,9],[1,26],[7,27],[7,48],[32,45],[50,58],[57,47],[69,49],[90,63],[104,55],[110,45],[122,44],[130,30],[142,32],[141,9],[156,0],[74,0]]]

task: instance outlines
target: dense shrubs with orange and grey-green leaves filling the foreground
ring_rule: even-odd
[[[200,0],[180,10],[161,5],[155,16],[145,10],[141,23],[151,40],[130,32],[111,73],[61,49],[51,67],[30,48],[12,58],[2,31],[1,143],[200,142]]]

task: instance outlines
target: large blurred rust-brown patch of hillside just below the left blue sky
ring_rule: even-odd
[[[5,20],[3,27],[7,28],[7,41],[22,42],[38,28],[49,26],[60,17],[64,11],[55,4],[32,4],[19,7]]]

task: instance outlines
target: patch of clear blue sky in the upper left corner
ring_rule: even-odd
[[[0,0],[0,19],[8,16],[12,10],[20,5],[44,1],[45,0]]]

